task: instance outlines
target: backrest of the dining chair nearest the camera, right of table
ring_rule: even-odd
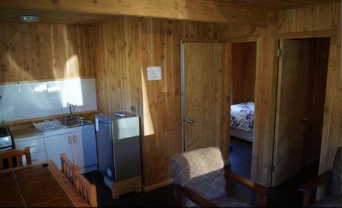
[[[76,176],[75,182],[79,196],[86,200],[91,207],[97,207],[96,186],[90,184],[81,174]]]

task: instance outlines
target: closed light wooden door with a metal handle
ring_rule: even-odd
[[[217,44],[184,43],[185,151],[218,146],[216,133]]]

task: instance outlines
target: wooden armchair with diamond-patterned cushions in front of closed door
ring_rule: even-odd
[[[225,171],[219,148],[200,148],[173,155],[171,164],[178,207],[250,207],[228,196],[228,180],[254,190],[257,193],[256,207],[266,206],[269,188]]]

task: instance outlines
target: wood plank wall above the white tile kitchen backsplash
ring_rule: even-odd
[[[0,23],[0,83],[92,77],[87,26]]]

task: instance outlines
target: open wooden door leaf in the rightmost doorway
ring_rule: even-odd
[[[272,186],[300,173],[310,42],[280,41]]]

